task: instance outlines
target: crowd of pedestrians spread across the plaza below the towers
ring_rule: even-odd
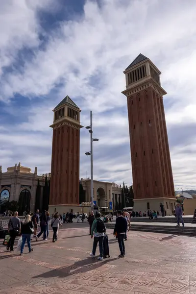
[[[161,208],[161,214],[164,216],[165,211],[163,204],[160,204]],[[140,212],[141,213],[141,212]],[[143,216],[146,214],[144,212]],[[159,213],[158,211],[147,211],[147,216],[152,219],[157,219]],[[176,203],[175,207],[175,216],[177,220],[177,226],[180,225],[180,222],[182,223],[184,227],[184,221],[183,221],[183,211],[182,207],[179,205],[179,203]],[[77,213],[77,222],[79,222],[80,214]],[[119,249],[120,249],[120,257],[124,257],[125,255],[125,245],[124,241],[127,240],[127,232],[130,229],[130,217],[134,217],[134,212],[132,211],[131,214],[129,212],[125,211],[118,211],[117,212],[117,218],[116,223],[114,227],[114,236],[118,240],[119,243]],[[84,221],[85,215],[82,214],[82,221]],[[96,254],[96,248],[99,244],[99,260],[102,260],[104,257],[104,242],[107,241],[107,235],[106,235],[106,222],[111,222],[113,218],[112,213],[108,213],[107,216],[103,217],[103,220],[101,219],[101,214],[99,212],[94,215],[94,212],[91,212],[88,217],[89,222],[89,235],[91,238],[94,238],[93,243],[93,250],[91,253],[92,257],[95,257]],[[196,218],[196,210],[194,213],[194,218]],[[58,212],[55,212],[52,214],[51,220],[49,212],[44,210],[41,214],[40,211],[37,210],[31,217],[31,212],[28,211],[25,213],[25,219],[24,221],[21,221],[18,218],[18,212],[14,213],[14,216],[10,218],[8,222],[8,233],[9,233],[9,241],[7,243],[6,249],[13,251],[14,250],[14,242],[17,236],[22,236],[22,243],[20,247],[20,254],[23,255],[25,243],[27,242],[29,253],[33,251],[33,248],[31,247],[31,234],[33,234],[33,237],[36,241],[43,235],[43,240],[48,240],[49,237],[49,222],[51,225],[51,228],[53,230],[52,235],[52,242],[57,241],[58,237],[58,229],[59,226],[62,226],[62,220],[63,223],[65,222],[73,222],[73,210],[69,213],[63,213],[63,216],[61,214],[58,214]],[[40,227],[40,232],[37,234],[38,227]],[[107,241],[108,242],[108,241]],[[108,245],[107,245],[108,246]],[[109,249],[108,249],[109,250]]]

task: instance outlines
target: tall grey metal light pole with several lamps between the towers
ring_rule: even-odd
[[[86,152],[85,154],[91,155],[91,211],[94,212],[94,195],[93,195],[93,141],[98,141],[97,138],[93,138],[93,112],[91,110],[90,114],[90,125],[86,126],[86,129],[89,130],[91,138],[91,151]]]

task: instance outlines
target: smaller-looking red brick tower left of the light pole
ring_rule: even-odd
[[[79,205],[80,109],[69,96],[54,108],[49,211]]]

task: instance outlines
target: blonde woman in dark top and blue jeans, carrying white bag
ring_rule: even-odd
[[[33,248],[31,248],[31,244],[30,244],[30,237],[32,233],[33,233],[33,223],[31,221],[30,215],[26,215],[25,220],[22,223],[22,228],[21,228],[21,234],[22,234],[22,240],[23,240],[21,245],[21,255],[23,255],[25,242],[27,242],[29,253],[33,251]]]

